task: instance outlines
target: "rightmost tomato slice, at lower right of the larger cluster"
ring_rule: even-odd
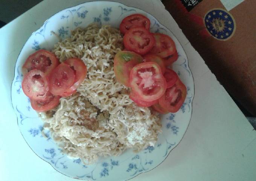
[[[175,113],[184,103],[186,95],[186,86],[178,78],[172,87],[166,89],[165,94],[158,101],[160,106],[168,112]]]

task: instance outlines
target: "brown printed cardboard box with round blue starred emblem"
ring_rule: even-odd
[[[219,82],[256,116],[256,1],[162,2]]]

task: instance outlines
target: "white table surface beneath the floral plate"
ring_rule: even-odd
[[[82,2],[44,0],[0,29],[0,181],[75,181],[54,170],[26,144],[12,109],[10,88],[16,59],[30,34],[55,12]],[[143,9],[168,27],[183,45],[195,79],[192,119],[183,140],[157,168],[131,180],[256,180],[256,131],[160,0],[118,2]]]

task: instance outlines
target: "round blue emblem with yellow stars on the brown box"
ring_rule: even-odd
[[[206,29],[214,38],[226,41],[235,33],[235,19],[224,9],[212,9],[204,17]]]

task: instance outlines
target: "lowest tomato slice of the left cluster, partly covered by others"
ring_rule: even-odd
[[[54,96],[50,92],[47,93],[46,99],[41,101],[30,100],[31,107],[37,112],[43,112],[58,106],[60,96]]]

